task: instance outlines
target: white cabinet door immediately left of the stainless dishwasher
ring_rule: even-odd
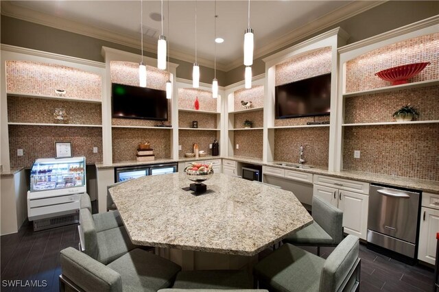
[[[340,190],[338,197],[338,208],[343,211],[344,232],[366,240],[369,196]]]

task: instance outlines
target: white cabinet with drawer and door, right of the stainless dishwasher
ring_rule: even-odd
[[[439,195],[423,193],[420,208],[418,259],[434,265],[436,260],[436,232],[439,232]],[[432,208],[430,208],[432,207]]]

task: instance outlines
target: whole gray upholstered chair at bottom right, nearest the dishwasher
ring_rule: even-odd
[[[348,235],[327,260],[285,244],[254,266],[259,287],[276,291],[357,291],[359,239]]]

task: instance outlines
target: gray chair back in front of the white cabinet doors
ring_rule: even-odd
[[[343,212],[331,203],[313,196],[312,215],[314,221],[323,228],[333,239],[333,244],[338,244],[343,239]]]

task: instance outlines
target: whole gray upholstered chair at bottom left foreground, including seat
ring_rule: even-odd
[[[181,267],[170,260],[135,249],[103,265],[67,247],[60,252],[60,291],[147,291],[171,287]]]

